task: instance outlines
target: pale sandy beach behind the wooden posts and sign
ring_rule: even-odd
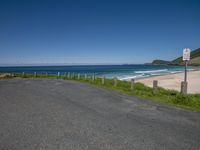
[[[180,91],[181,81],[184,80],[184,73],[137,79],[136,82],[152,87],[153,80],[158,80],[158,86],[160,87]],[[200,93],[200,71],[188,72],[188,93]]]

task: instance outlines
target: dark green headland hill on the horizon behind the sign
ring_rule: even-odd
[[[188,62],[188,65],[200,65],[200,48],[194,50],[190,54],[190,61]],[[184,62],[182,60],[182,56],[178,57],[172,61],[165,61],[165,60],[154,60],[152,64],[155,65],[184,65]]]

